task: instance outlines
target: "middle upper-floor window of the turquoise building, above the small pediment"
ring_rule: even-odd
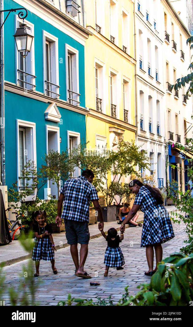
[[[52,98],[59,97],[58,39],[43,31],[44,40],[44,93]]]

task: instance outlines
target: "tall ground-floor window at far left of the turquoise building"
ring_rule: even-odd
[[[27,162],[34,162],[36,165],[36,131],[35,123],[26,122],[17,119],[17,163],[18,163],[18,187],[19,190],[33,184],[33,180],[26,181],[19,179],[22,177],[22,170]]]

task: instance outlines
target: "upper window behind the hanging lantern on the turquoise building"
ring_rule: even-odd
[[[34,34],[34,25],[30,22],[26,22],[26,27],[31,29],[32,34]],[[16,28],[23,24],[23,20],[16,17]],[[16,84],[19,84],[24,89],[35,90],[35,62],[34,62],[34,41],[32,41],[31,51],[24,58],[21,56],[20,52],[16,51]]]

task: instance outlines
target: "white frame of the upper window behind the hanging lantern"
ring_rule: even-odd
[[[23,19],[20,19],[18,17],[18,15],[15,15],[15,32],[16,32],[16,30],[18,28],[19,23],[23,23]],[[31,28],[32,35],[34,35],[34,24],[32,24],[31,22],[26,21],[26,20],[24,20],[24,23]],[[34,50],[34,40],[32,41],[31,51],[30,51],[30,53],[28,53],[28,56],[29,55],[31,56],[31,61],[32,61],[31,73],[30,74],[32,74],[32,75],[35,76],[35,50]],[[20,56],[21,56],[21,54],[20,54]],[[17,46],[16,46],[16,43],[15,43],[15,83],[17,85],[19,85],[19,81],[18,81],[18,79],[19,79],[19,72],[17,71],[18,69],[19,69],[18,50],[17,50]],[[32,80],[32,84],[35,85],[36,84],[35,77],[32,77],[31,80]],[[27,85],[29,85],[29,84],[25,84],[24,83],[24,86],[25,86],[24,89],[27,89],[26,88]],[[35,90],[35,89],[36,89],[35,86],[32,86],[31,85],[31,90]],[[29,91],[30,91],[30,89],[29,89]]]

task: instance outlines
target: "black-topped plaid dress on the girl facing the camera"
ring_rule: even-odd
[[[39,232],[39,227],[34,226],[33,228],[34,232],[38,232],[38,235],[40,235],[40,232],[43,232],[43,229]],[[53,233],[52,227],[48,224],[45,226],[45,231],[48,231],[49,233]],[[36,238],[34,239],[34,248],[32,251],[32,260],[33,261],[40,261],[40,260],[45,260],[45,261],[50,261],[54,260],[54,252],[52,250],[52,243],[50,241],[49,235],[45,236],[43,238]]]

